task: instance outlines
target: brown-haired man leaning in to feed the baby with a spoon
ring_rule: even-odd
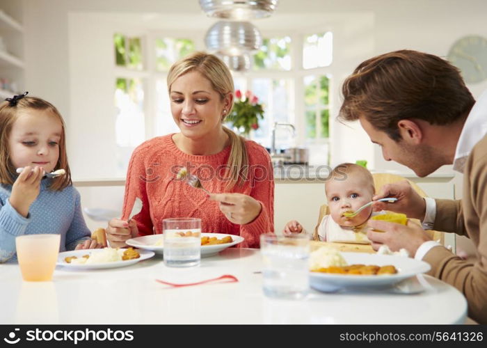
[[[481,73],[481,72],[479,72]],[[468,301],[469,316],[487,324],[487,93],[475,102],[458,70],[447,61],[415,51],[371,58],[344,82],[342,120],[358,120],[387,161],[397,161],[424,177],[444,164],[463,173],[462,200],[421,198],[407,182],[385,185],[374,209],[403,212],[433,230],[472,239],[472,264],[432,241],[421,226],[369,221],[387,232],[368,232],[377,249],[406,248],[431,264],[429,274],[454,285]],[[448,303],[445,303],[448,306]]]

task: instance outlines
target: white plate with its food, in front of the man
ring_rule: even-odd
[[[310,286],[322,292],[391,287],[431,269],[424,261],[399,255],[342,253],[319,248],[310,256]]]

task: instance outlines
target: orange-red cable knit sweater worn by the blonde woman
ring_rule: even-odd
[[[230,146],[215,155],[188,155],[179,150],[173,134],[145,141],[134,150],[127,170],[122,219],[128,219],[136,197],[143,209],[135,216],[139,235],[162,233],[162,220],[174,217],[202,219],[202,232],[240,235],[245,241],[241,248],[258,248],[262,233],[274,230],[274,178],[269,154],[254,141],[246,141],[249,158],[249,180],[230,192],[244,193],[258,200],[262,210],[253,221],[237,225],[228,221],[218,209],[218,202],[208,200],[205,191],[186,182],[175,180],[179,168],[189,168],[211,193],[225,191],[225,177],[221,175],[230,155]]]

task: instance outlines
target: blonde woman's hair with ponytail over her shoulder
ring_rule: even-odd
[[[208,79],[213,89],[220,94],[221,100],[224,100],[228,93],[234,93],[233,78],[227,65],[214,54],[205,52],[194,52],[173,64],[169,70],[167,80],[169,93],[173,82],[178,77],[191,71],[197,71]],[[227,113],[222,117],[222,127],[223,120],[232,111],[232,107],[233,98]],[[227,176],[230,181],[226,189],[230,190],[237,183],[239,185],[244,184],[248,177],[248,153],[245,139],[242,136],[235,134],[227,127],[223,127],[223,131],[228,135],[232,148],[227,161],[227,167],[229,168]]]

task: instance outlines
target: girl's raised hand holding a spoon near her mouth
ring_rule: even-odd
[[[31,204],[39,196],[40,180],[43,175],[44,169],[40,166],[35,166],[33,169],[26,166],[13,183],[12,194],[8,200],[10,205],[24,217],[27,217]]]

